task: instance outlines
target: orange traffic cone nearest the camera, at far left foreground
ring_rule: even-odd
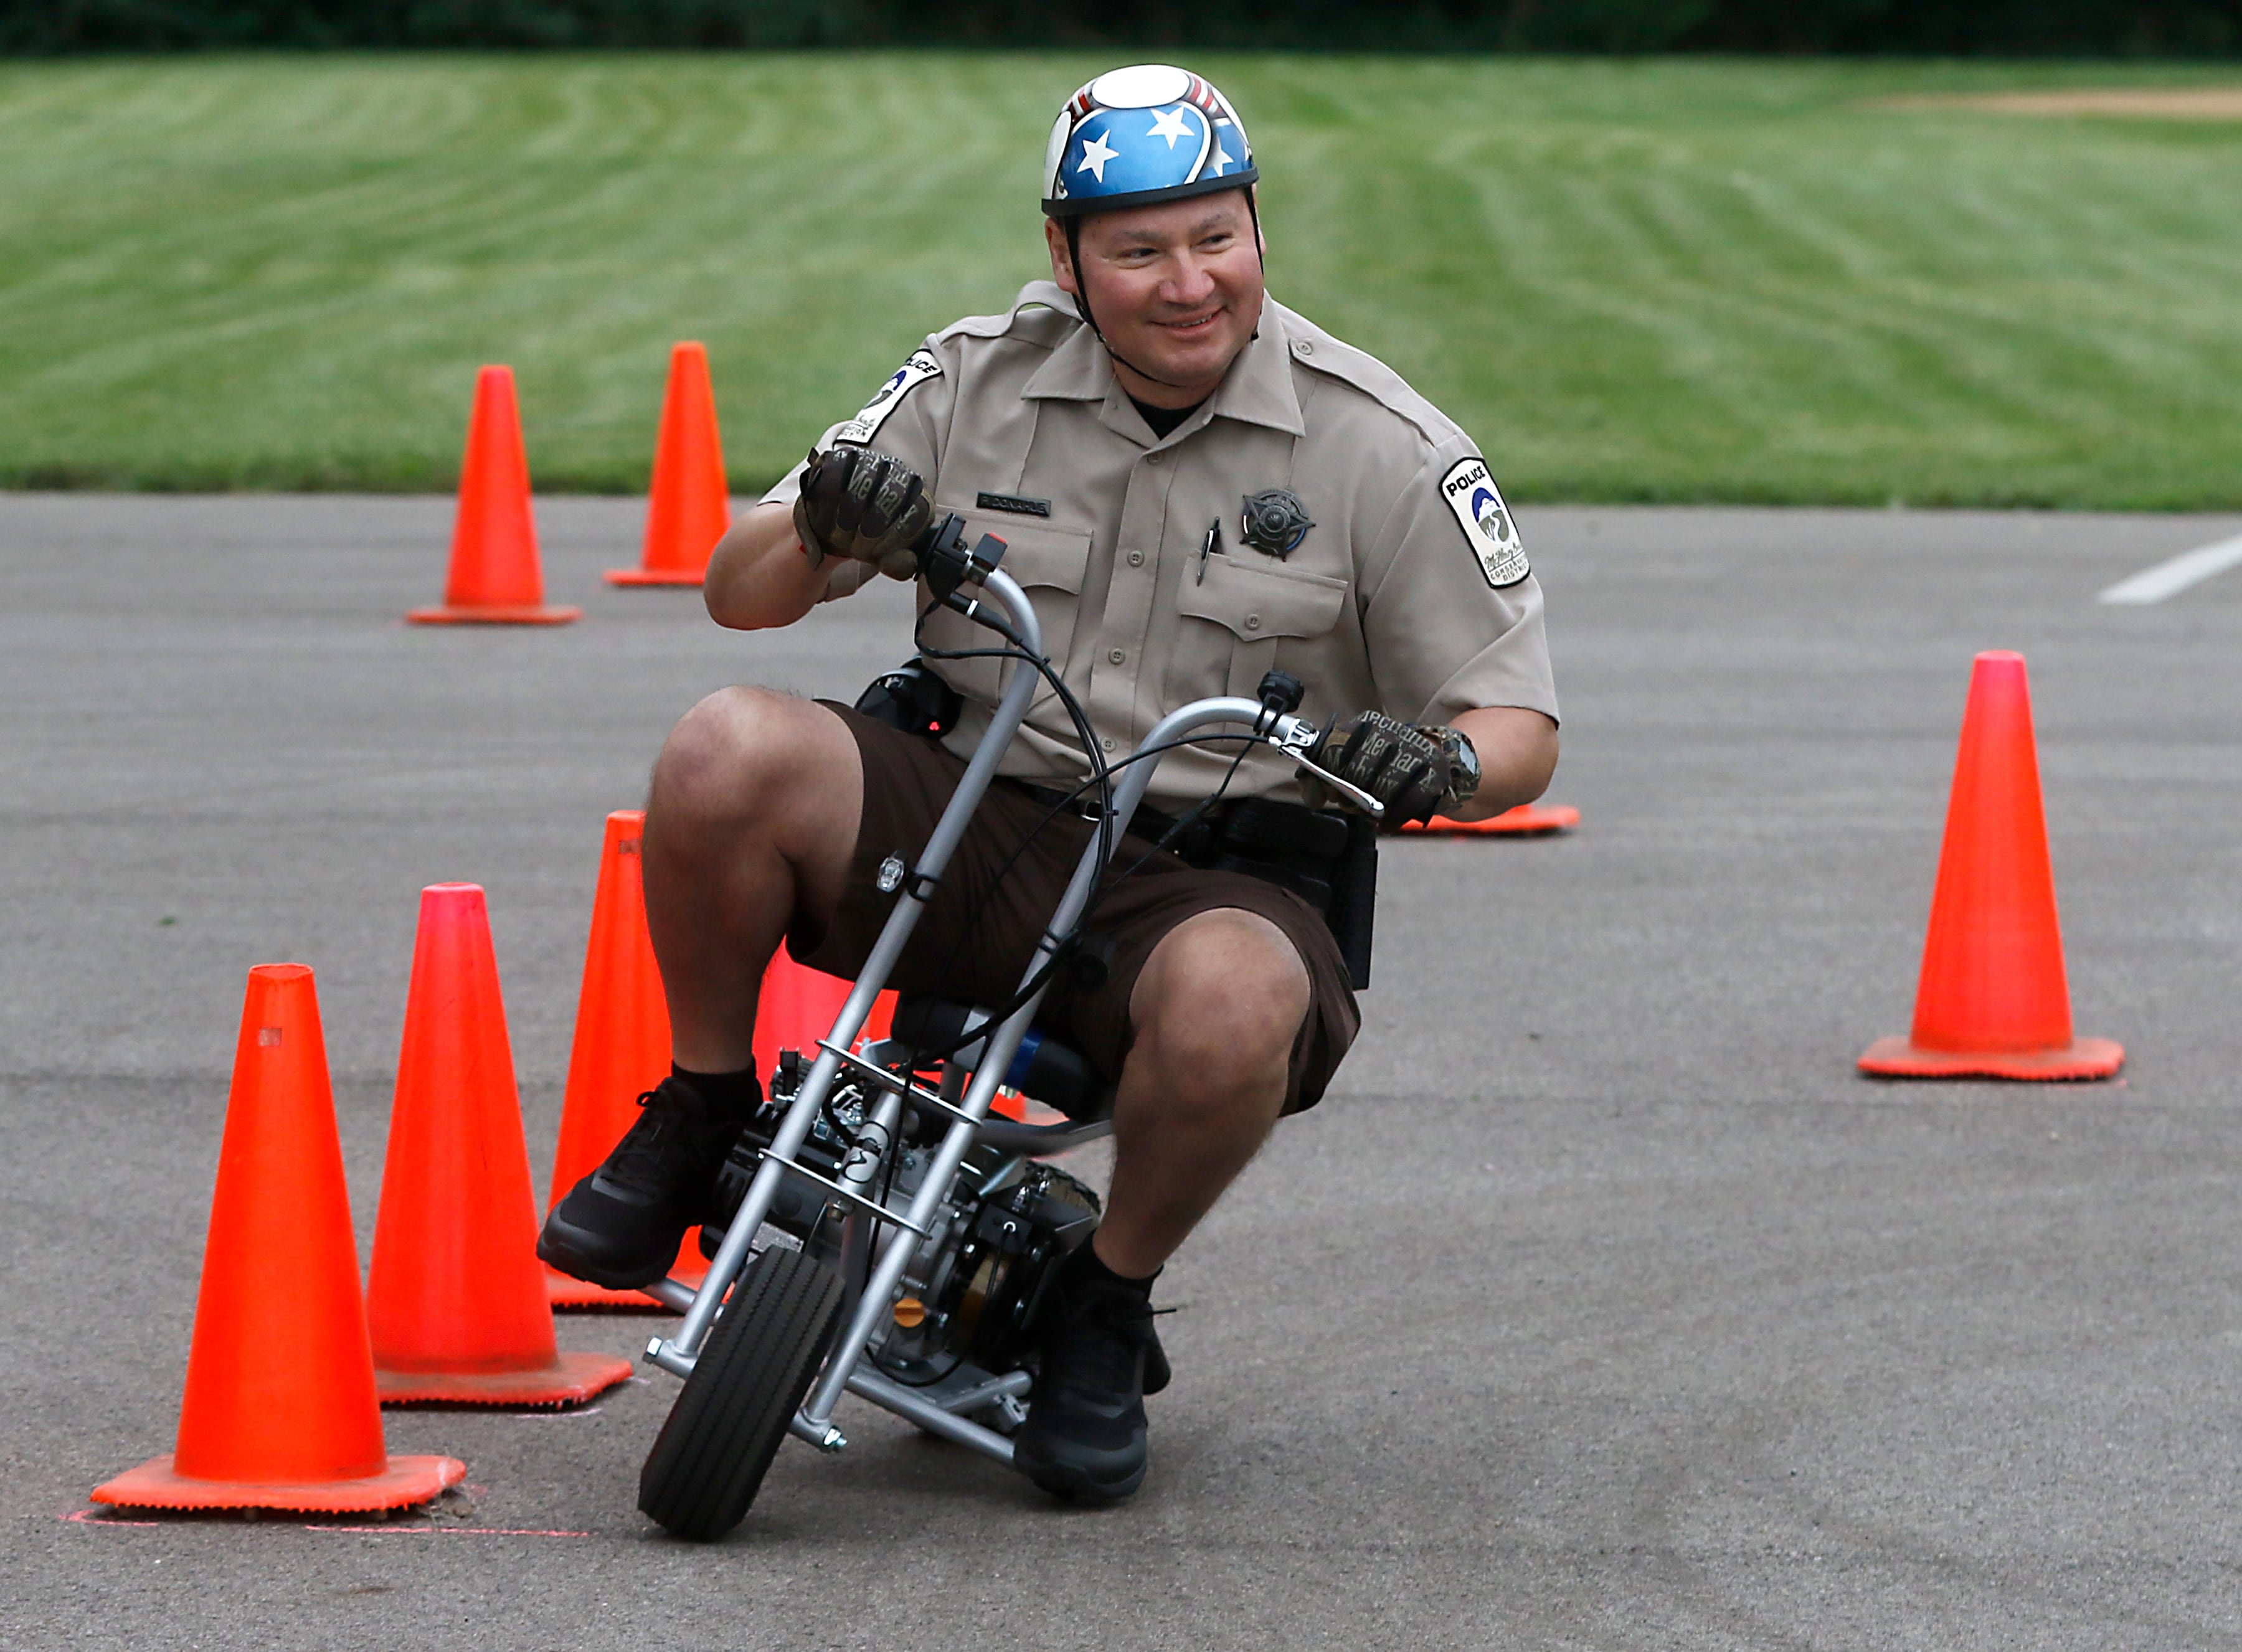
[[[94,1488],[126,1509],[404,1509],[455,1457],[390,1457],[350,1237],[318,995],[303,964],[249,971],[170,1457]]]

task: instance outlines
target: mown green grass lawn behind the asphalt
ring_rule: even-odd
[[[639,489],[704,338],[760,486],[1043,271],[1043,132],[1096,67],[0,65],[0,484],[442,489],[507,361],[538,486]],[[1199,67],[1271,289],[1520,498],[2242,504],[2242,126],[1863,108],[2217,69]]]

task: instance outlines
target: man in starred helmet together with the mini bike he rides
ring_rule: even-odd
[[[1377,829],[1549,780],[1489,466],[1267,298],[1256,177],[1199,76],[1081,87],[1054,280],[928,338],[711,558],[735,628],[874,572],[924,603],[859,706],[726,690],[655,767],[675,1071],[538,1251],[686,1316],[648,1349],[686,1388],[641,1477],[679,1535],[729,1531],[785,1432],[836,1450],[843,1392],[1060,1497],[1134,1493],[1152,1280],[1354,1038]],[[854,991],[765,1094],[780,939]],[[1007,1085],[1067,1123],[991,1116]],[[1043,1159],[1108,1132],[1101,1210]],[[688,1293],[661,1275],[695,1222]]]

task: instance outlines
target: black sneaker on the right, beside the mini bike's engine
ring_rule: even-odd
[[[1114,1502],[1143,1484],[1143,1396],[1168,1385],[1152,1334],[1152,1280],[1123,1280],[1076,1251],[1043,1309],[1043,1367],[1013,1466],[1056,1497]]]

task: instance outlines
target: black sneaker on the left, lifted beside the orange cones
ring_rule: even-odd
[[[711,1116],[675,1076],[664,1078],[639,1096],[639,1116],[614,1152],[545,1217],[538,1255],[610,1291],[652,1284],[708,1208],[740,1125]]]

